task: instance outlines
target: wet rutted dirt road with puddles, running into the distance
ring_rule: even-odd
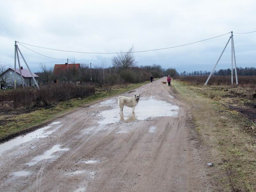
[[[162,80],[0,145],[0,191],[210,191],[186,104]]]

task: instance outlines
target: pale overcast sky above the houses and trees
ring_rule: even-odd
[[[14,67],[14,41],[79,52],[134,51],[187,44],[230,32],[256,30],[256,1],[5,1],[0,0],[0,62]],[[229,34],[204,42],[135,53],[137,65],[162,65],[178,72],[212,70]],[[234,34],[237,67],[256,67],[256,32]],[[111,65],[111,54],[83,54],[28,48],[77,63]],[[65,63],[19,45],[33,72],[39,63]],[[25,66],[25,64],[22,65]],[[231,67],[231,42],[217,70]],[[26,67],[25,67],[26,68]]]

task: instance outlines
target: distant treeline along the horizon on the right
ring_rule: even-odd
[[[256,68],[255,67],[239,67],[236,68],[236,72],[238,76],[255,76],[256,75]],[[181,76],[208,76],[210,75],[210,71],[192,71],[192,72],[182,72],[180,73]],[[214,71],[213,75],[215,76],[231,76],[231,69],[220,69],[218,71]],[[233,69],[233,75],[235,75],[235,69]]]

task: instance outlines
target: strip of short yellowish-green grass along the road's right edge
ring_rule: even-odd
[[[247,131],[252,122],[228,108],[231,100],[223,97],[228,93],[222,89],[172,82],[174,91],[190,105],[201,143],[208,150],[206,159],[215,163],[207,174],[218,184],[213,191],[256,191],[256,138]]]

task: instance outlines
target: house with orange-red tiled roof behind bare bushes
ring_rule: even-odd
[[[80,63],[75,64],[55,64],[53,68],[54,82],[73,82],[79,74]]]

